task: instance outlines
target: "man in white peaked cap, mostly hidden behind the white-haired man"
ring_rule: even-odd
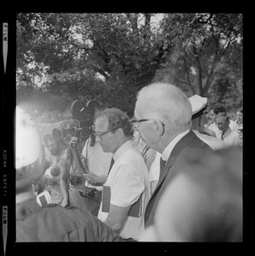
[[[188,98],[188,100],[191,103],[192,108],[191,130],[194,131],[200,140],[209,145],[213,150],[223,148],[223,142],[220,139],[209,136],[208,133],[205,132],[207,98],[195,94],[194,96]]]

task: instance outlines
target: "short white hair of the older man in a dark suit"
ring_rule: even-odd
[[[149,84],[137,94],[140,110],[144,118],[159,119],[171,130],[178,134],[187,130],[191,125],[192,108],[182,90],[177,86],[165,83]]]

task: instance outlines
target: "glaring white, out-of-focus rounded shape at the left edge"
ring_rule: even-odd
[[[16,192],[26,189],[42,175],[43,144],[32,118],[20,107],[15,109]]]

